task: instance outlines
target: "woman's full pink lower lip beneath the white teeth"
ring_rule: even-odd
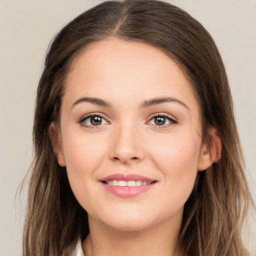
[[[119,197],[129,198],[150,190],[156,184],[156,182],[141,186],[113,186],[104,182],[101,182],[101,184],[108,192],[113,193]]]

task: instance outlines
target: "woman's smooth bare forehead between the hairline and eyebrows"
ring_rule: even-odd
[[[149,44],[116,38],[82,51],[72,63],[66,86],[65,94],[73,101],[97,96],[127,103],[175,96],[198,107],[190,82],[174,60]]]

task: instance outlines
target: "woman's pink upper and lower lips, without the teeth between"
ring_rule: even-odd
[[[125,180],[125,181],[141,180],[141,181],[152,182],[152,183],[147,185],[140,185],[140,186],[115,186],[115,185],[108,185],[104,182],[108,180]],[[116,174],[106,176],[102,178],[100,181],[102,181],[101,184],[104,187],[104,189],[106,189],[106,191],[123,198],[129,198],[129,197],[133,197],[141,193],[144,193],[149,189],[151,189],[157,183],[157,182],[154,182],[156,181],[154,179],[151,179],[139,174],[135,174],[135,173],[130,173],[130,174],[116,173]]]

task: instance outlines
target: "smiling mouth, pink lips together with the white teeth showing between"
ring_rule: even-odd
[[[150,190],[157,180],[135,173],[116,173],[102,178],[104,189],[119,197],[133,197]]]

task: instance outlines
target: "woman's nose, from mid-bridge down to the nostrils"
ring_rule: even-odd
[[[116,129],[111,141],[109,158],[121,163],[139,162],[144,158],[145,151],[139,131],[132,126]]]

